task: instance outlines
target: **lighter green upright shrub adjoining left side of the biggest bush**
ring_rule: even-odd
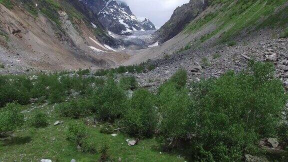
[[[191,100],[186,88],[177,88],[177,84],[168,81],[159,87],[158,107],[161,114],[159,125],[160,141],[167,147],[172,147],[187,135],[190,118]],[[171,139],[171,140],[170,140]],[[170,144],[168,144],[170,143]]]

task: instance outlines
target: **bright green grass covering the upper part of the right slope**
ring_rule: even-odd
[[[214,8],[203,17],[191,21],[184,31],[197,33],[213,24],[214,30],[201,36],[200,42],[212,37],[218,43],[229,42],[242,31],[254,31],[264,27],[284,26],[287,22],[287,7],[280,7],[286,0],[214,0]],[[275,11],[275,8],[278,8]],[[250,32],[249,31],[249,32]],[[219,35],[219,37],[217,37]]]

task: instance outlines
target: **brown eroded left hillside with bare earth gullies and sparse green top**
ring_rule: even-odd
[[[0,0],[0,53],[6,69],[110,67],[117,41],[78,0]],[[2,48],[3,47],[3,48]]]

